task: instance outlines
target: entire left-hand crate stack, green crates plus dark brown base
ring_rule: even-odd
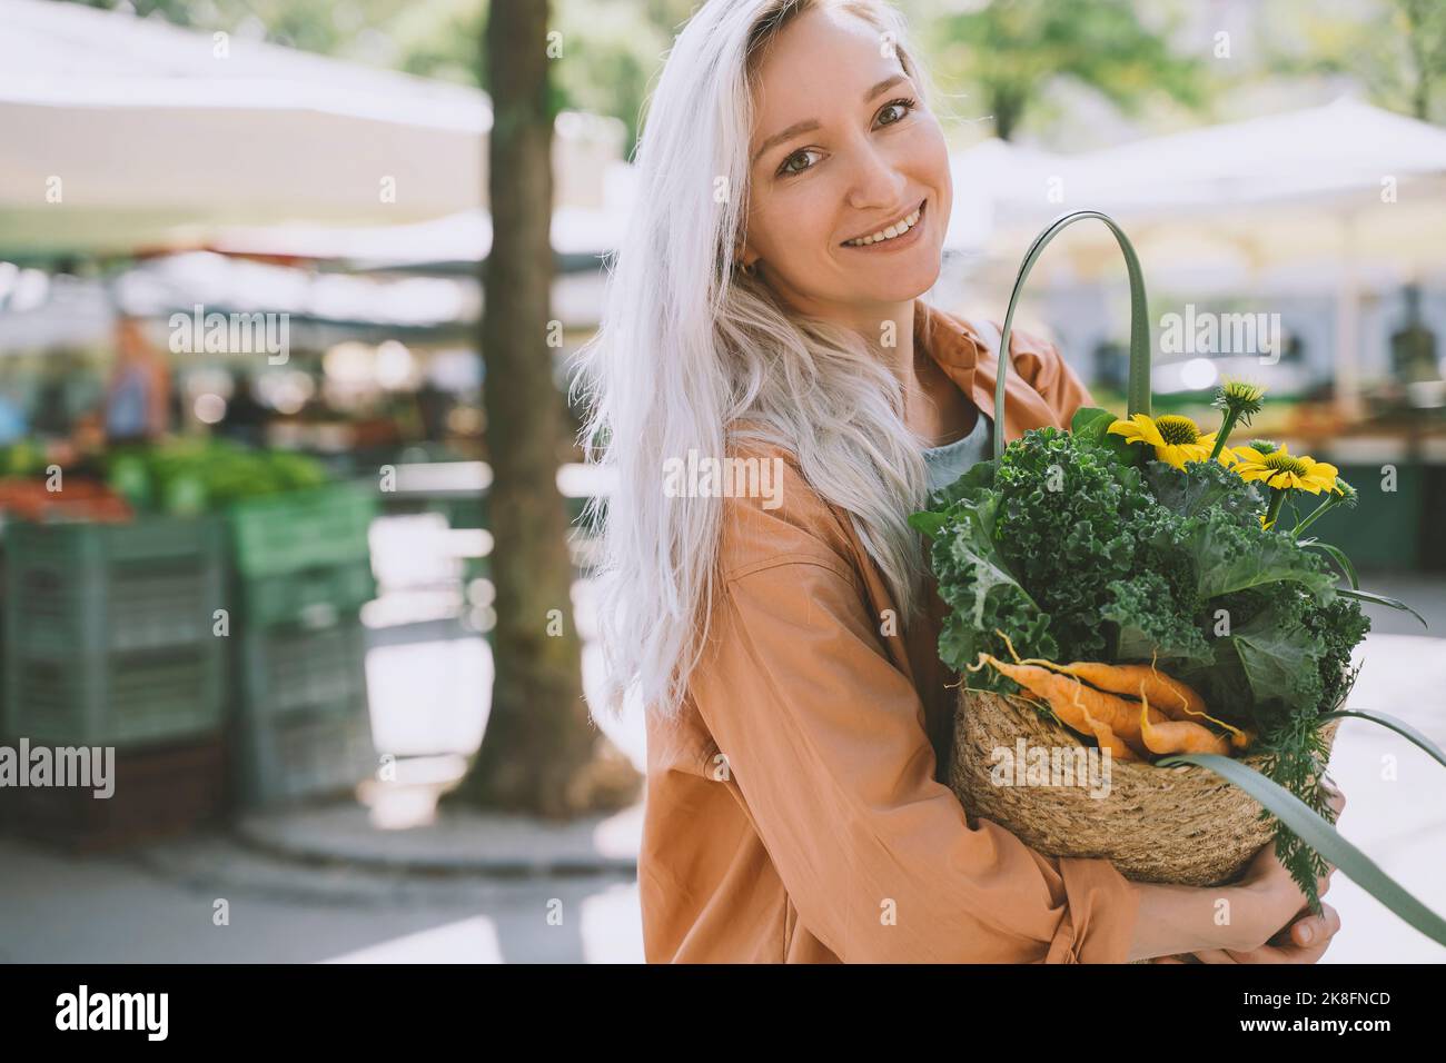
[[[213,519],[6,526],[3,732],[114,748],[116,785],[4,794],[6,819],[72,848],[202,823],[223,806],[227,606]]]

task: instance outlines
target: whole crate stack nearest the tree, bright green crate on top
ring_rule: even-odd
[[[373,489],[257,498],[228,513],[244,808],[341,794],[376,768],[360,610],[376,593]]]

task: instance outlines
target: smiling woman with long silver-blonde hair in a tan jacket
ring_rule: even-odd
[[[953,191],[897,14],[710,0],[638,163],[584,438],[616,474],[610,704],[648,713],[646,959],[1314,960],[1329,908],[1267,946],[1304,905],[1270,848],[1235,887],[1137,885],[970,826],[937,778],[954,677],[905,516],[1089,396],[1017,333],[993,409],[996,333],[918,298]]]

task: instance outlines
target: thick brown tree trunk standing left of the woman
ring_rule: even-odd
[[[496,680],[482,749],[451,800],[564,819],[623,807],[639,777],[589,719],[557,469],[567,453],[551,324],[552,97],[547,0],[492,0],[493,106],[483,263]],[[549,340],[552,341],[549,344]]]

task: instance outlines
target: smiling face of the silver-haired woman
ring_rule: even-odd
[[[937,279],[953,185],[918,100],[881,33],[843,12],[800,16],[762,56],[742,257],[797,309],[855,318]]]

